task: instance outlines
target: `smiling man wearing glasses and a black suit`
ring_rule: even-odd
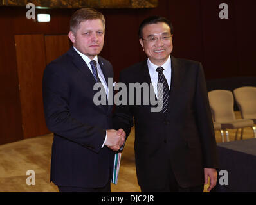
[[[117,106],[114,126],[128,136],[134,117],[136,174],[142,192],[203,192],[208,177],[208,190],[217,181],[205,77],[201,63],[170,56],[172,35],[172,24],[163,17],[149,17],[140,25],[140,44],[148,59],[120,72],[120,82],[130,92],[125,96],[129,104]],[[152,86],[161,111],[153,112],[156,106],[143,103],[150,101],[152,92],[131,95],[129,83]],[[138,97],[142,105],[136,105]]]

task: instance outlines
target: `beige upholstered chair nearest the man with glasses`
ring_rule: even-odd
[[[239,128],[253,127],[253,120],[235,119],[233,94],[229,90],[212,90],[208,92],[208,97],[214,121],[221,123],[221,128],[226,133],[227,142],[229,142],[227,129],[236,129],[235,139],[237,139]]]

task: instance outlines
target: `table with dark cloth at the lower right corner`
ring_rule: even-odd
[[[256,139],[217,143],[217,151],[218,179],[212,192],[256,192]],[[228,171],[228,185],[219,184],[221,170]]]

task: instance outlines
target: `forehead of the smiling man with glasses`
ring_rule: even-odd
[[[158,22],[156,24],[147,24],[142,29],[142,33],[144,36],[170,33],[170,27],[165,22]]]

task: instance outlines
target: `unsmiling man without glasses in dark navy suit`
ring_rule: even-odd
[[[110,192],[114,152],[109,147],[119,149],[125,138],[122,129],[113,129],[113,106],[94,102],[95,83],[102,83],[105,97],[113,88],[107,86],[113,67],[98,56],[104,32],[102,13],[78,10],[68,34],[73,47],[44,70],[44,113],[54,133],[50,180],[60,192]]]

